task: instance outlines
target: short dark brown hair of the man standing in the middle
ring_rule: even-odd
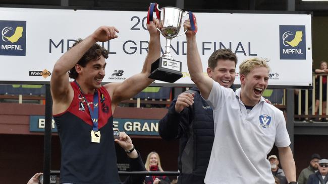
[[[218,49],[215,50],[208,58],[208,67],[214,69],[219,59],[235,61],[237,65],[237,56],[230,49]]]

